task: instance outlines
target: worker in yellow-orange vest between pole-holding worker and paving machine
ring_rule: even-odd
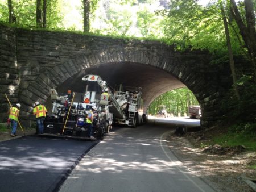
[[[36,124],[38,125],[38,134],[43,134],[44,132],[44,119],[47,115],[47,109],[44,105],[40,105],[39,102],[35,102],[35,108],[33,114],[36,116]]]

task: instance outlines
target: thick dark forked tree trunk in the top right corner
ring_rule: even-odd
[[[254,81],[256,82],[256,32],[255,32],[255,15],[253,12],[253,2],[251,0],[245,0],[245,12],[247,27],[241,18],[240,12],[237,9],[235,0],[230,1],[230,10],[237,26],[240,30],[240,34],[245,41],[245,45],[248,49],[249,56],[254,67]]]

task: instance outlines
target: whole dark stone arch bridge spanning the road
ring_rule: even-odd
[[[0,26],[1,119],[8,103],[22,104],[30,125],[32,103],[45,103],[49,89],[84,91],[81,77],[99,74],[109,85],[142,87],[144,110],[156,97],[187,86],[202,108],[201,125],[221,119],[220,103],[231,82],[228,66],[211,65],[203,51],[175,51],[160,41],[113,39],[66,32],[13,30]]]

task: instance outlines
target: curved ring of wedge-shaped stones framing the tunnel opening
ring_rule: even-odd
[[[198,53],[179,52],[159,53],[143,51],[143,49],[108,49],[108,51],[81,54],[51,69],[42,69],[36,80],[30,82],[27,89],[20,93],[20,101],[25,106],[23,116],[30,119],[32,110],[30,106],[33,102],[45,102],[49,97],[49,89],[56,88],[82,70],[112,62],[136,62],[162,69],[183,82],[195,94],[202,107],[203,116],[207,119],[216,114],[217,111],[214,111],[214,108],[220,96],[217,81],[214,79],[205,81],[207,73],[199,70],[202,69],[199,65],[203,68],[208,66],[209,57],[200,57],[207,54],[201,52],[199,55]]]

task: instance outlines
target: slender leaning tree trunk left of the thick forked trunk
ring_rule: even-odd
[[[226,21],[226,14],[224,12],[224,8],[223,8],[223,5],[222,5],[222,0],[219,0],[219,3],[220,3],[222,20],[223,20],[224,28],[225,28],[226,44],[228,46],[228,52],[229,52],[229,66],[230,66],[230,70],[231,70],[231,74],[232,74],[232,78],[233,78],[234,91],[237,95],[237,98],[240,99],[240,95],[238,93],[237,85],[236,85],[237,74],[236,74],[236,69],[235,69],[235,66],[234,66],[233,51],[232,51],[232,47],[231,47],[228,22]]]

